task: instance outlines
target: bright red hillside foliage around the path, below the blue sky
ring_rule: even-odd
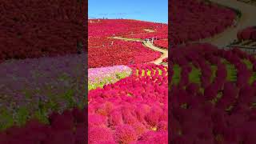
[[[142,45],[110,38],[167,38],[167,25],[136,20],[89,20],[89,67],[141,64],[154,61],[160,53]],[[118,27],[118,29],[117,29]],[[145,29],[154,30],[147,32]]]

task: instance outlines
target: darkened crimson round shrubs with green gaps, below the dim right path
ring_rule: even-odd
[[[210,44],[172,49],[171,143],[254,143],[256,58]]]

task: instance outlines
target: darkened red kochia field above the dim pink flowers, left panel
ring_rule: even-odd
[[[1,2],[0,58],[38,58],[77,52],[86,42],[86,1]]]

